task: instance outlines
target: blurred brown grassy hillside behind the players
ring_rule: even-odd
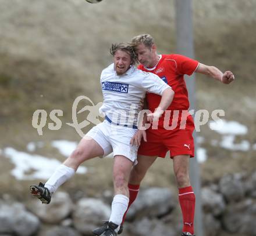
[[[175,52],[173,2],[105,0],[90,5],[82,0],[0,0],[0,133],[3,134],[0,148],[26,150],[29,141],[44,141],[47,145],[39,153],[61,160],[48,143],[55,139],[80,139],[65,122],[72,119],[72,104],[77,96],[90,97],[95,104],[102,100],[98,80],[102,68],[111,63],[108,49],[112,42],[128,41],[147,32],[155,37],[159,53]],[[198,109],[222,108],[227,120],[239,121],[249,128],[244,138],[254,144],[256,2],[197,0],[193,8],[196,58],[223,71],[232,70],[236,76],[232,85],[225,86],[198,75]],[[63,110],[62,128],[44,128],[44,135],[38,136],[31,125],[37,109],[48,114],[53,109]],[[212,147],[209,143],[216,134],[207,126],[202,127],[200,136],[207,140],[204,147],[209,155],[202,164],[205,182],[218,179],[223,173],[254,169],[255,151],[230,152]],[[12,164],[1,153],[0,156],[3,159],[0,172],[5,176],[0,178],[3,193],[13,191],[10,185],[19,190],[15,191],[19,197],[27,193],[30,181],[21,184],[10,177]],[[237,158],[229,165],[233,156]],[[112,187],[112,162],[109,159],[103,162],[99,159],[88,162],[88,166],[97,166],[94,172],[97,179],[76,177],[66,185],[70,193],[74,188],[86,187],[86,194],[93,195],[104,180],[105,188]],[[145,185],[174,183],[172,163],[166,165],[167,162],[159,160],[152,166]]]

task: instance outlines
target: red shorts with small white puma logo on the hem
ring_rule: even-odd
[[[147,129],[147,142],[141,140],[139,155],[158,156],[164,158],[170,151],[170,157],[190,155],[194,157],[194,122],[187,119],[186,129],[166,130],[164,128]]]

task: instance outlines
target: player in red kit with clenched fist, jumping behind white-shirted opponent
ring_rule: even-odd
[[[172,87],[175,96],[165,112],[159,111],[158,122],[153,123],[147,130],[138,130],[131,139],[131,144],[140,147],[137,157],[138,164],[133,166],[130,174],[129,206],[136,199],[140,183],[147,170],[158,157],[164,158],[167,151],[170,151],[183,215],[182,235],[194,235],[195,195],[189,177],[189,159],[194,157],[194,122],[188,112],[189,99],[184,75],[198,72],[226,84],[234,80],[234,75],[231,71],[222,73],[214,66],[206,66],[186,56],[158,55],[154,39],[148,34],[134,37],[131,43],[140,62],[138,68],[157,74]],[[147,93],[146,100],[148,109],[155,112],[161,96]],[[120,233],[122,233],[122,225]]]

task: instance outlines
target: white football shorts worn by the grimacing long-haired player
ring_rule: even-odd
[[[130,141],[137,129],[132,129],[120,125],[110,124],[104,121],[94,126],[86,136],[91,137],[104,150],[104,157],[113,152],[115,155],[123,155],[137,164],[137,146],[131,146]]]

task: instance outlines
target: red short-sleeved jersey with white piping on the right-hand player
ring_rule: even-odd
[[[138,69],[158,75],[172,87],[175,95],[172,103],[166,110],[189,110],[189,97],[184,81],[184,75],[193,74],[198,67],[198,64],[198,61],[190,59],[189,57],[171,54],[162,55],[157,66],[153,68],[145,68],[140,64]],[[155,93],[147,93],[146,99],[148,102],[148,109],[154,112],[155,108],[159,106],[161,96],[156,95]],[[163,119],[163,117],[164,115],[161,118]]]

